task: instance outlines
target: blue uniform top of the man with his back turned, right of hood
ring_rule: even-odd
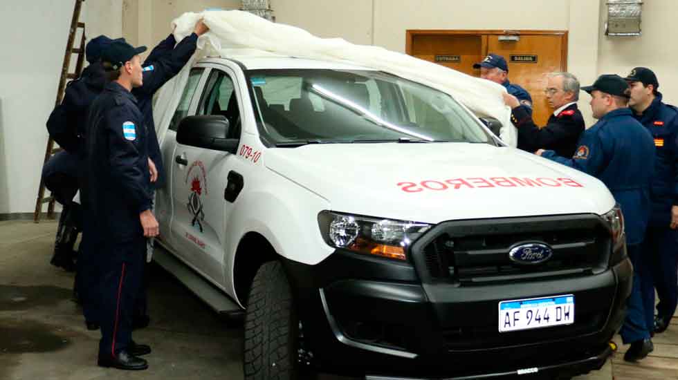
[[[574,157],[560,157],[553,151],[545,151],[542,157],[603,181],[621,205],[626,243],[643,242],[654,173],[654,142],[629,108],[607,113],[584,131]]]

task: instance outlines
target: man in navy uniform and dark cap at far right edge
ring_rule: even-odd
[[[643,259],[652,269],[652,281],[645,281],[643,299],[650,331],[659,333],[668,327],[678,301],[678,112],[662,102],[657,75],[649,68],[636,67],[625,79],[631,88],[629,107],[652,133],[657,149],[652,213],[643,243]],[[655,287],[659,296],[656,317]]]

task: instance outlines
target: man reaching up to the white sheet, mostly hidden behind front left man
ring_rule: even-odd
[[[160,144],[156,135],[155,122],[153,120],[152,101],[153,95],[163,84],[167,83],[176,74],[181,71],[188,60],[196,50],[198,37],[208,32],[209,28],[199,20],[194,27],[191,35],[182,39],[176,44],[174,35],[161,41],[158,46],[151,50],[151,53],[143,63],[143,86],[133,88],[132,94],[137,99],[137,105],[143,115],[144,124],[148,128],[148,155],[151,158],[151,164],[154,164],[153,171],[157,173],[157,181],[154,182],[154,189],[165,186],[165,165],[160,151]],[[176,45],[176,46],[175,46]],[[153,249],[149,244],[149,249]],[[144,266],[144,272],[147,266]],[[134,328],[146,327],[150,322],[147,312],[147,278],[143,275],[143,286],[139,294],[138,303],[134,307]]]

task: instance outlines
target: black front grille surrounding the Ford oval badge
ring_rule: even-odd
[[[422,239],[413,257],[423,278],[462,285],[585,276],[604,270],[610,251],[610,233],[594,215],[443,222]],[[508,257],[512,247],[535,242],[553,256],[538,265]]]

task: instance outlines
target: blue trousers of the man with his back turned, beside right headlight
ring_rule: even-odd
[[[619,334],[624,344],[633,343],[642,339],[650,338],[650,325],[646,303],[643,300],[643,286],[648,283],[648,268],[643,264],[642,247],[639,244],[627,245],[626,247],[631,263],[633,264],[633,285],[631,294],[626,301],[626,318]],[[650,284],[652,278],[650,277]],[[645,284],[645,285],[643,285]],[[650,309],[653,311],[654,309]],[[654,320],[652,321],[654,323]]]

